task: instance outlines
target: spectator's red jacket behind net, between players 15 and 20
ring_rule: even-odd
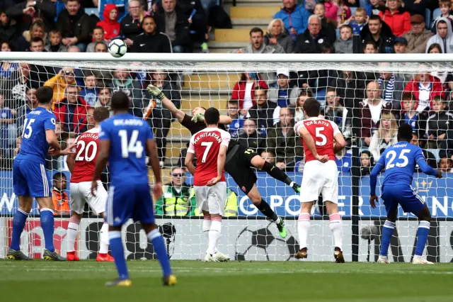
[[[86,119],[87,108],[88,104],[80,96],[77,98],[77,104],[68,104],[67,99],[62,99],[55,104],[54,114],[57,121],[63,124],[64,131],[80,133]]]

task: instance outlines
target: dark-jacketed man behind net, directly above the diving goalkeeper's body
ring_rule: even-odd
[[[273,113],[277,105],[268,101],[268,93],[262,87],[256,87],[253,94],[256,104],[248,109],[247,118],[255,120],[259,137],[265,138],[268,129],[273,128]]]

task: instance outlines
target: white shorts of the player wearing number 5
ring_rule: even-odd
[[[307,162],[304,167],[300,198],[302,202],[317,201],[323,194],[323,201],[338,203],[338,169],[333,160],[322,163]]]

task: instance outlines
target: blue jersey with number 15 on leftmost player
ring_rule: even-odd
[[[55,131],[55,121],[55,114],[46,108],[38,107],[30,111],[23,123],[21,151],[16,159],[45,163],[50,147],[45,138],[45,131]]]

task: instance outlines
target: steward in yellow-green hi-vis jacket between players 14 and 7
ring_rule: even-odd
[[[161,198],[156,201],[156,215],[195,216],[195,191],[185,183],[185,171],[174,168],[171,182],[162,188]]]

